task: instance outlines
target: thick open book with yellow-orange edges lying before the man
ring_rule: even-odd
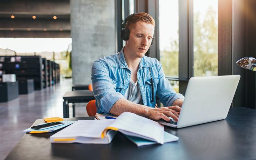
[[[50,137],[52,143],[108,144],[116,132],[164,144],[163,125],[134,113],[124,112],[115,120],[78,120]]]

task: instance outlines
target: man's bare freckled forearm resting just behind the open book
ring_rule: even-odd
[[[116,101],[116,103],[110,109],[109,113],[119,116],[123,112],[132,112],[140,116],[148,117],[148,112],[150,109],[150,107],[136,104],[129,100],[121,98]]]

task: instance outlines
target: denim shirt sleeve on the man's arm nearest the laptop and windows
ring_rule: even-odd
[[[156,95],[159,97],[160,102],[163,103],[164,107],[172,106],[172,103],[182,98],[184,96],[180,93],[176,93],[172,86],[169,84],[169,81],[165,78],[164,70],[162,68],[161,62],[158,61],[158,80]]]

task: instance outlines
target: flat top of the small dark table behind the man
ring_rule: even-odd
[[[92,91],[69,91],[63,96],[63,100],[74,100],[74,99],[92,99],[94,95]]]

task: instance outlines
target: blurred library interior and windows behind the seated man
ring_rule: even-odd
[[[36,119],[65,116],[65,93],[88,91],[93,61],[122,49],[135,12],[156,20],[151,57],[176,92],[190,77],[238,74],[231,107],[256,108],[255,73],[236,65],[256,56],[254,0],[1,0],[0,159]],[[69,114],[88,116],[86,104]]]

